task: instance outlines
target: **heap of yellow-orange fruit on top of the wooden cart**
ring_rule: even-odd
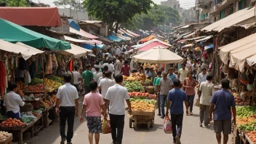
[[[132,111],[155,111],[154,100],[135,100],[130,99]]]

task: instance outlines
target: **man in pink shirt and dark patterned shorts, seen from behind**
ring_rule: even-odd
[[[81,108],[80,122],[84,121],[84,113],[87,110],[87,127],[89,129],[89,143],[93,143],[93,134],[95,134],[95,143],[98,144],[100,140],[101,128],[101,113],[103,110],[105,119],[108,115],[103,102],[103,96],[97,93],[97,82],[91,81],[89,83],[91,92],[84,96],[83,107]]]

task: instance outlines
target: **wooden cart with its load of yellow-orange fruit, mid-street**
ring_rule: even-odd
[[[147,128],[153,127],[155,121],[155,100],[130,98],[132,113],[129,115],[129,128],[137,129],[138,124],[146,124]]]

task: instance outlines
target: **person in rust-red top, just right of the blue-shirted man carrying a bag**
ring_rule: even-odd
[[[188,96],[188,106],[189,106],[189,114],[193,115],[192,111],[193,111],[193,99],[195,98],[196,95],[196,91],[195,91],[195,87],[196,87],[196,80],[193,79],[192,77],[193,73],[190,71],[188,72],[188,77],[184,79],[183,81],[183,87],[185,87],[185,93]],[[187,115],[188,115],[188,111],[186,111]]]

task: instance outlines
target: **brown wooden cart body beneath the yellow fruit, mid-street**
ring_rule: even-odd
[[[129,115],[129,128],[137,129],[137,124],[148,124],[148,129],[153,127],[155,111],[132,111]]]

